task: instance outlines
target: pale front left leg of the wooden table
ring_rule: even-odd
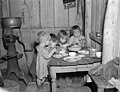
[[[56,68],[55,67],[50,67],[50,76],[52,79],[52,92],[56,92],[57,90],[57,85],[56,85]]]

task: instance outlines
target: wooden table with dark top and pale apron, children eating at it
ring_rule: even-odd
[[[49,74],[52,80],[52,92],[56,92],[56,78],[57,73],[68,73],[78,71],[89,71],[91,68],[100,64],[100,59],[96,58],[85,58],[76,62],[66,62],[63,59],[52,58],[48,63]]]

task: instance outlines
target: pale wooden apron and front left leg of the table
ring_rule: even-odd
[[[55,61],[55,60],[54,60]],[[52,62],[52,60],[51,60]],[[57,62],[57,60],[56,60]],[[55,63],[56,63],[55,62]],[[60,61],[62,62],[62,61]],[[97,63],[90,63],[90,64],[73,64],[73,65],[61,65],[60,62],[57,62],[55,65],[50,65],[49,66],[49,73],[50,77],[52,80],[52,92],[56,92],[56,78],[57,78],[57,73],[68,73],[68,72],[78,72],[78,71],[89,71],[91,68],[97,66],[100,64],[100,62]]]

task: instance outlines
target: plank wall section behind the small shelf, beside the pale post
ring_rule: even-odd
[[[101,35],[103,34],[106,2],[107,0],[92,0],[91,33],[95,35],[96,32],[100,32]],[[91,41],[91,46],[96,48],[101,48],[101,46],[94,41]]]

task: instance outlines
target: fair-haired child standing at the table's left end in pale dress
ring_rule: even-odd
[[[42,87],[45,79],[48,76],[47,64],[49,59],[56,52],[55,45],[57,40],[50,38],[50,35],[46,32],[38,33],[40,44],[37,48],[37,63],[36,63],[36,74],[37,74],[37,85],[38,89]]]

